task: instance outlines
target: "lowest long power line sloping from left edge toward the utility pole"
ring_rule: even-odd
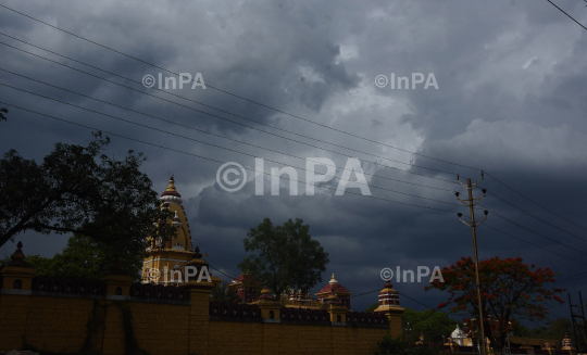
[[[38,114],[38,115],[41,115],[41,116],[46,116],[46,117],[49,117],[49,118],[52,118],[52,119],[61,121],[61,122],[68,123],[68,124],[72,124],[72,125],[76,125],[76,126],[79,126],[79,127],[84,127],[84,128],[88,128],[88,129],[92,129],[92,130],[100,130],[100,131],[103,131],[103,132],[105,132],[108,135],[112,135],[112,136],[120,137],[120,138],[123,138],[123,139],[132,140],[132,141],[135,141],[135,142],[143,143],[143,144],[148,144],[148,145],[152,145],[152,147],[157,147],[157,148],[161,148],[161,149],[165,149],[165,150],[173,151],[173,152],[176,152],[176,153],[182,153],[182,154],[186,154],[186,155],[200,157],[200,159],[211,161],[211,162],[215,162],[215,163],[221,163],[221,164],[225,163],[225,162],[212,159],[212,157],[207,157],[207,156],[202,156],[202,155],[180,151],[180,150],[177,150],[177,149],[164,147],[164,145],[161,145],[161,144],[147,142],[147,141],[139,140],[139,139],[136,139],[136,138],[126,137],[126,136],[114,134],[114,132],[111,132],[111,131],[101,130],[101,129],[98,129],[98,128],[95,128],[95,127],[90,127],[90,126],[83,125],[83,124],[79,124],[79,123],[75,123],[75,122],[72,122],[72,121],[67,121],[67,119],[64,119],[64,118],[59,118],[59,117],[51,116],[51,115],[48,115],[48,114],[45,114],[45,113],[40,113],[40,112],[33,111],[33,110],[24,109],[24,107],[21,107],[21,106],[14,105],[14,104],[10,104],[10,103],[7,103],[7,102],[0,102],[0,103],[9,105],[11,107],[21,109],[23,111],[27,111],[27,112],[30,112],[30,113],[34,113],[34,114]],[[312,183],[312,182],[300,181],[300,180],[291,179],[289,177],[276,176],[276,175],[272,175],[270,173],[259,172],[259,170],[247,168],[247,167],[243,167],[243,168],[247,169],[247,170],[253,172],[253,173],[260,173],[260,174],[264,174],[264,175],[268,175],[268,176],[275,176],[277,178],[283,178],[283,179],[291,180],[291,181],[295,181],[295,182],[301,182],[301,183],[304,183],[304,185],[313,185],[314,187],[319,187],[319,188],[322,188],[322,189],[336,190],[336,188],[328,187],[328,186],[321,186],[321,185],[316,185],[316,183]],[[400,201],[395,201],[395,200],[389,200],[389,199],[384,199],[384,198],[377,198],[377,196],[374,196],[374,195],[364,195],[362,193],[352,192],[352,191],[346,191],[346,193],[355,194],[355,195],[359,195],[359,196],[364,196],[364,198],[370,198],[370,199],[375,199],[375,200],[379,200],[379,201],[397,203],[397,204],[407,205],[407,206],[412,206],[412,207],[416,207],[416,208],[426,208],[426,210],[433,210],[433,211],[455,213],[455,211],[449,211],[449,210],[444,210],[444,208],[438,208],[438,207],[416,205],[416,204],[412,204],[412,203],[408,203],[408,202],[400,202]]]

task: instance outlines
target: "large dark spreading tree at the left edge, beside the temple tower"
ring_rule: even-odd
[[[121,259],[143,250],[147,236],[176,234],[133,151],[124,160],[102,154],[110,139],[92,134],[87,145],[55,144],[42,163],[14,150],[0,160],[0,245],[26,230],[87,236]],[[110,248],[112,246],[112,248]]]

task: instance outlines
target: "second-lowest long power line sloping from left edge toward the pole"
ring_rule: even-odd
[[[230,151],[230,152],[233,152],[233,153],[238,153],[238,154],[242,154],[242,155],[247,155],[247,156],[251,156],[251,157],[258,157],[257,155],[253,155],[253,154],[248,154],[248,153],[245,153],[245,152],[241,152],[241,151],[237,151],[237,150],[234,150],[234,149],[229,149],[229,148],[226,148],[226,147],[222,147],[222,145],[217,145],[217,144],[204,142],[204,141],[201,141],[201,140],[198,140],[198,139],[193,139],[193,138],[189,138],[189,137],[182,136],[182,135],[177,135],[177,134],[170,132],[170,131],[166,131],[166,130],[163,130],[163,129],[159,129],[159,128],[154,128],[154,127],[151,127],[151,126],[148,126],[148,125],[139,124],[139,123],[136,123],[136,122],[133,122],[133,121],[129,121],[129,119],[126,119],[126,118],[121,118],[121,117],[116,117],[116,116],[113,116],[113,115],[109,115],[109,114],[105,114],[105,113],[101,113],[101,112],[98,112],[98,111],[95,111],[95,110],[91,110],[91,109],[82,107],[82,106],[78,106],[78,105],[73,104],[73,103],[67,103],[67,102],[64,102],[64,101],[61,101],[61,100],[51,99],[51,98],[49,98],[49,97],[46,97],[46,96],[42,96],[42,94],[39,94],[39,93],[35,93],[35,92],[30,92],[30,91],[27,91],[27,90],[24,90],[24,89],[20,89],[20,88],[16,88],[16,87],[13,87],[13,86],[10,86],[10,85],[7,85],[7,84],[1,84],[1,83],[0,83],[0,85],[5,86],[5,87],[9,87],[9,88],[14,89],[14,90],[20,90],[20,91],[23,91],[23,92],[26,92],[26,93],[29,93],[29,94],[34,94],[34,96],[37,96],[37,97],[40,97],[40,98],[45,98],[45,99],[47,99],[47,100],[52,100],[52,101],[55,101],[55,102],[59,102],[59,103],[63,103],[63,104],[66,104],[66,105],[73,106],[73,107],[77,107],[77,109],[80,109],[80,110],[85,110],[85,111],[88,111],[88,112],[92,112],[92,113],[96,113],[96,114],[99,114],[99,115],[102,115],[102,116],[107,116],[107,117],[111,117],[111,118],[114,118],[114,119],[117,119],[117,121],[126,122],[126,123],[129,123],[129,124],[132,124],[132,125],[140,126],[140,127],[148,128],[148,129],[155,130],[155,131],[160,131],[160,132],[163,132],[163,134],[166,134],[166,135],[179,137],[179,138],[183,138],[183,139],[187,139],[187,140],[190,140],[190,141],[198,142],[198,143],[202,143],[202,144],[207,144],[207,145],[211,145],[211,147],[224,149],[224,150]],[[270,159],[265,159],[265,160],[268,161],[268,162],[275,163],[275,164],[285,165],[285,164],[282,163],[282,162],[273,161],[273,160],[270,160]],[[317,163],[317,162],[314,162],[314,161],[311,161],[311,160],[309,160],[309,161],[310,161],[310,162],[313,162],[313,163]],[[308,172],[308,169],[307,169],[307,168],[303,168],[303,167],[298,167],[298,166],[296,166],[296,168],[301,169],[301,170],[304,170],[304,172]],[[326,174],[325,174],[324,176],[327,176],[327,177],[329,177],[329,178],[335,178],[335,179],[337,179],[337,180],[339,180],[339,181],[354,182],[354,183],[359,183],[359,185],[366,186],[367,188],[370,187],[369,183],[366,183],[366,182],[351,181],[351,180],[348,180],[348,179],[339,178],[339,177],[334,176],[334,175],[326,175]],[[297,180],[292,180],[292,181],[297,181]],[[425,198],[425,196],[421,196],[421,195],[417,195],[417,194],[412,194],[412,193],[407,193],[407,192],[396,191],[396,190],[391,190],[391,189],[383,188],[383,187],[377,187],[377,186],[371,186],[371,187],[374,188],[374,189],[379,189],[379,190],[385,190],[385,191],[389,191],[389,192],[394,192],[394,193],[404,194],[404,195],[409,195],[409,196],[416,198],[416,199],[424,199],[424,200],[428,200],[428,201],[434,201],[434,202],[439,202],[439,203],[445,203],[445,204],[450,204],[450,205],[459,206],[459,204],[453,203],[453,202],[446,202],[446,201],[436,200],[436,199],[432,199],[432,198]]]

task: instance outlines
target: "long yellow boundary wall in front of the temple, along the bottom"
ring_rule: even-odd
[[[376,342],[389,332],[375,328],[209,320],[209,293],[193,290],[190,301],[191,305],[2,293],[0,352],[22,348],[23,340],[41,351],[77,352],[92,319],[93,348],[104,355],[124,355],[121,304],[127,304],[132,310],[138,345],[152,355],[372,354]]]

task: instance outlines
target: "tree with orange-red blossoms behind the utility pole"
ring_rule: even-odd
[[[450,307],[451,312],[477,316],[479,314],[475,262],[461,257],[450,267],[442,268],[445,282],[434,280],[424,288],[448,291],[447,302],[438,308]],[[548,314],[547,301],[564,301],[558,295],[564,290],[550,288],[554,272],[550,268],[536,268],[523,264],[521,257],[500,259],[497,256],[479,263],[479,284],[484,309],[485,337],[496,348],[502,348],[512,317],[517,319],[544,319]]]

